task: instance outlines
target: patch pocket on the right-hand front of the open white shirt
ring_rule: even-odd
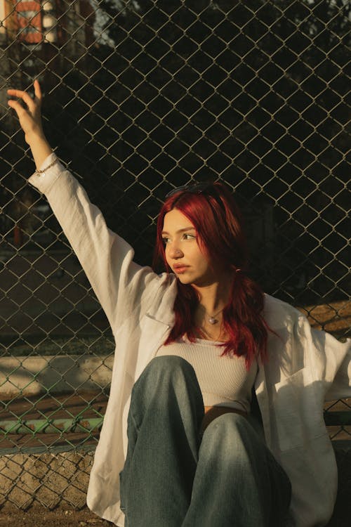
[[[319,405],[317,381],[307,368],[274,385],[274,414],[280,450],[307,445],[326,434],[323,408]]]

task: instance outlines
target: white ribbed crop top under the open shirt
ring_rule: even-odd
[[[157,356],[176,355],[185,358],[195,370],[205,406],[227,406],[250,412],[251,389],[257,374],[257,361],[246,370],[245,358],[223,356],[220,342],[181,337],[161,346]]]

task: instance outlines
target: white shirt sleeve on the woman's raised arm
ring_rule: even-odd
[[[53,161],[55,154],[47,157],[41,170]],[[136,306],[147,309],[160,277],[151,268],[138,266],[133,261],[131,245],[107,228],[102,213],[91,204],[77,179],[56,160],[41,174],[34,172],[29,183],[46,195],[112,330]]]

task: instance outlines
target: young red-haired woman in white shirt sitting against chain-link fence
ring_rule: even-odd
[[[8,91],[25,103],[8,104],[37,165],[29,181],[117,344],[88,506],[128,527],[326,525],[337,477],[322,408],[351,396],[350,343],[311,330],[246,276],[239,212],[218,183],[166,197],[156,245],[166,273],[134,263],[53,154],[34,91]]]

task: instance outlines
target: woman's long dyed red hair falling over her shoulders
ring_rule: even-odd
[[[229,338],[223,343],[223,355],[245,356],[249,369],[253,359],[267,357],[267,324],[262,316],[264,295],[260,286],[246,275],[248,251],[241,214],[234,198],[222,183],[208,183],[201,191],[179,190],[166,199],[157,219],[157,242],[154,268],[161,261],[169,273],[161,232],[164,216],[178,209],[191,221],[199,244],[210,261],[232,271],[230,299],[223,309],[223,326]],[[199,297],[191,285],[177,280],[178,293],[174,303],[175,324],[165,341],[170,344],[183,334],[190,341],[196,338],[193,313]],[[200,330],[201,331],[201,330]]]

